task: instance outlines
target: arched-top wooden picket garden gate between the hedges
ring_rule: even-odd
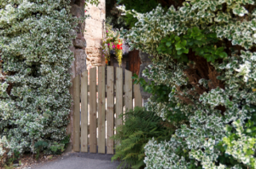
[[[143,106],[139,85],[132,84],[131,76],[129,70],[101,66],[85,70],[81,77],[74,78],[74,151],[89,152],[90,149],[90,153],[105,154],[107,147],[107,154],[113,154],[114,143],[110,137],[114,128],[122,124],[122,119],[117,117],[134,106]]]

